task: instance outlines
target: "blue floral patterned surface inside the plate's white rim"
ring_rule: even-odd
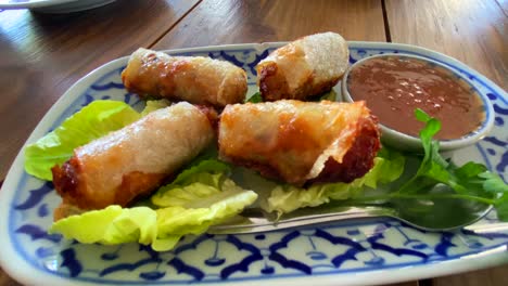
[[[274,46],[238,50],[211,48],[179,54],[227,60],[247,72],[249,84],[255,89],[254,66],[272,49]],[[506,93],[493,88],[478,74],[426,50],[353,42],[350,62],[386,52],[432,57],[469,77],[480,92],[488,94],[495,109],[494,131],[475,146],[458,152],[454,159],[483,161],[508,180]],[[98,77],[68,105],[48,132],[94,100],[120,100],[142,108],[139,98],[124,89],[119,77],[122,69]],[[496,251],[508,244],[506,226],[482,232],[463,229],[430,233],[394,219],[379,218],[262,234],[186,236],[175,249],[166,252],[155,252],[137,244],[82,245],[46,232],[52,221],[52,209],[59,204],[51,182],[24,173],[16,190],[9,214],[9,234],[16,251],[42,272],[100,284],[180,284],[339,275],[440,263]],[[495,225],[497,222],[496,213],[491,212],[475,225]]]

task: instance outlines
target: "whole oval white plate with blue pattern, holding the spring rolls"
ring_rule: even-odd
[[[491,99],[494,131],[479,144],[454,153],[458,162],[484,162],[508,180],[508,96],[492,81],[443,54],[392,43],[351,42],[351,58],[379,53],[430,57],[469,77]],[[243,67],[250,93],[254,66],[280,43],[240,44],[170,51],[208,55]],[[120,72],[127,58],[113,61],[74,84],[48,112],[28,143],[59,126],[91,101],[113,99],[142,107],[125,91]],[[59,204],[50,182],[23,170],[21,152],[0,192],[2,268],[26,284],[251,284],[355,285],[382,284],[463,272],[508,262],[508,223],[491,212],[484,220],[456,232],[429,233],[393,219],[347,220],[328,225],[263,234],[186,236],[167,252],[137,244],[81,245],[48,235]]]

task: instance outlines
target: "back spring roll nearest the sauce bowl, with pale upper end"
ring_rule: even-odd
[[[335,32],[301,38],[275,50],[256,66],[265,101],[301,100],[323,93],[344,75],[347,42]]]

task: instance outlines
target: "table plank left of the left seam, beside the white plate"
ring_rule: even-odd
[[[118,0],[72,14],[0,13],[0,179],[49,107],[79,78],[150,47],[198,0]]]

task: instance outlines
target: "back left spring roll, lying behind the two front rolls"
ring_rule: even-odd
[[[122,73],[125,88],[141,98],[188,101],[224,107],[240,103],[247,90],[245,72],[203,56],[170,56],[138,49]]]

